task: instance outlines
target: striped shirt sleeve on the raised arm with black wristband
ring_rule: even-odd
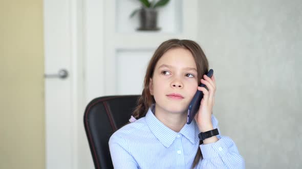
[[[214,128],[218,128],[218,120],[212,116]],[[218,142],[200,145],[203,159],[198,168],[245,168],[245,161],[233,140],[227,136],[218,135]]]

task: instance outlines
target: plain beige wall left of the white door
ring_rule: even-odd
[[[0,168],[45,168],[42,0],[0,1]]]

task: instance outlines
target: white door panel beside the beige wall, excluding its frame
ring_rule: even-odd
[[[68,1],[44,1],[46,168],[72,168],[72,81]],[[69,71],[59,78],[60,69]]]

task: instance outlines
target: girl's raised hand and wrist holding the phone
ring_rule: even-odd
[[[201,132],[206,132],[213,129],[211,115],[214,105],[214,94],[216,92],[216,82],[214,75],[209,78],[206,74],[203,75],[204,79],[201,79],[201,83],[206,85],[209,91],[204,87],[197,87],[199,91],[203,93],[203,98],[195,116],[195,120]]]

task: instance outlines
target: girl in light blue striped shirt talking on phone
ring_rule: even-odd
[[[234,142],[217,132],[212,115],[215,78],[194,41],[171,39],[155,51],[133,116],[109,140],[115,168],[244,168]],[[203,78],[203,79],[202,79]],[[206,88],[199,87],[200,82]],[[188,105],[204,96],[195,120],[186,124]],[[219,130],[218,130],[219,131]],[[199,134],[212,132],[208,137]],[[217,135],[218,134],[218,135]]]

